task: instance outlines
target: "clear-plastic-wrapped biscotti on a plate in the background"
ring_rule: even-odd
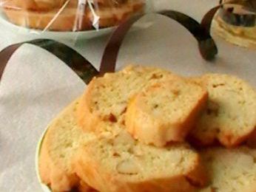
[[[113,27],[145,11],[145,0],[0,0],[7,21],[28,29],[78,32]]]

